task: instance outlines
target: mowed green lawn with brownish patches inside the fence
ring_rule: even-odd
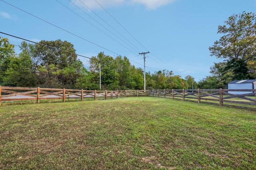
[[[1,106],[0,169],[256,169],[256,112],[152,97]]]

